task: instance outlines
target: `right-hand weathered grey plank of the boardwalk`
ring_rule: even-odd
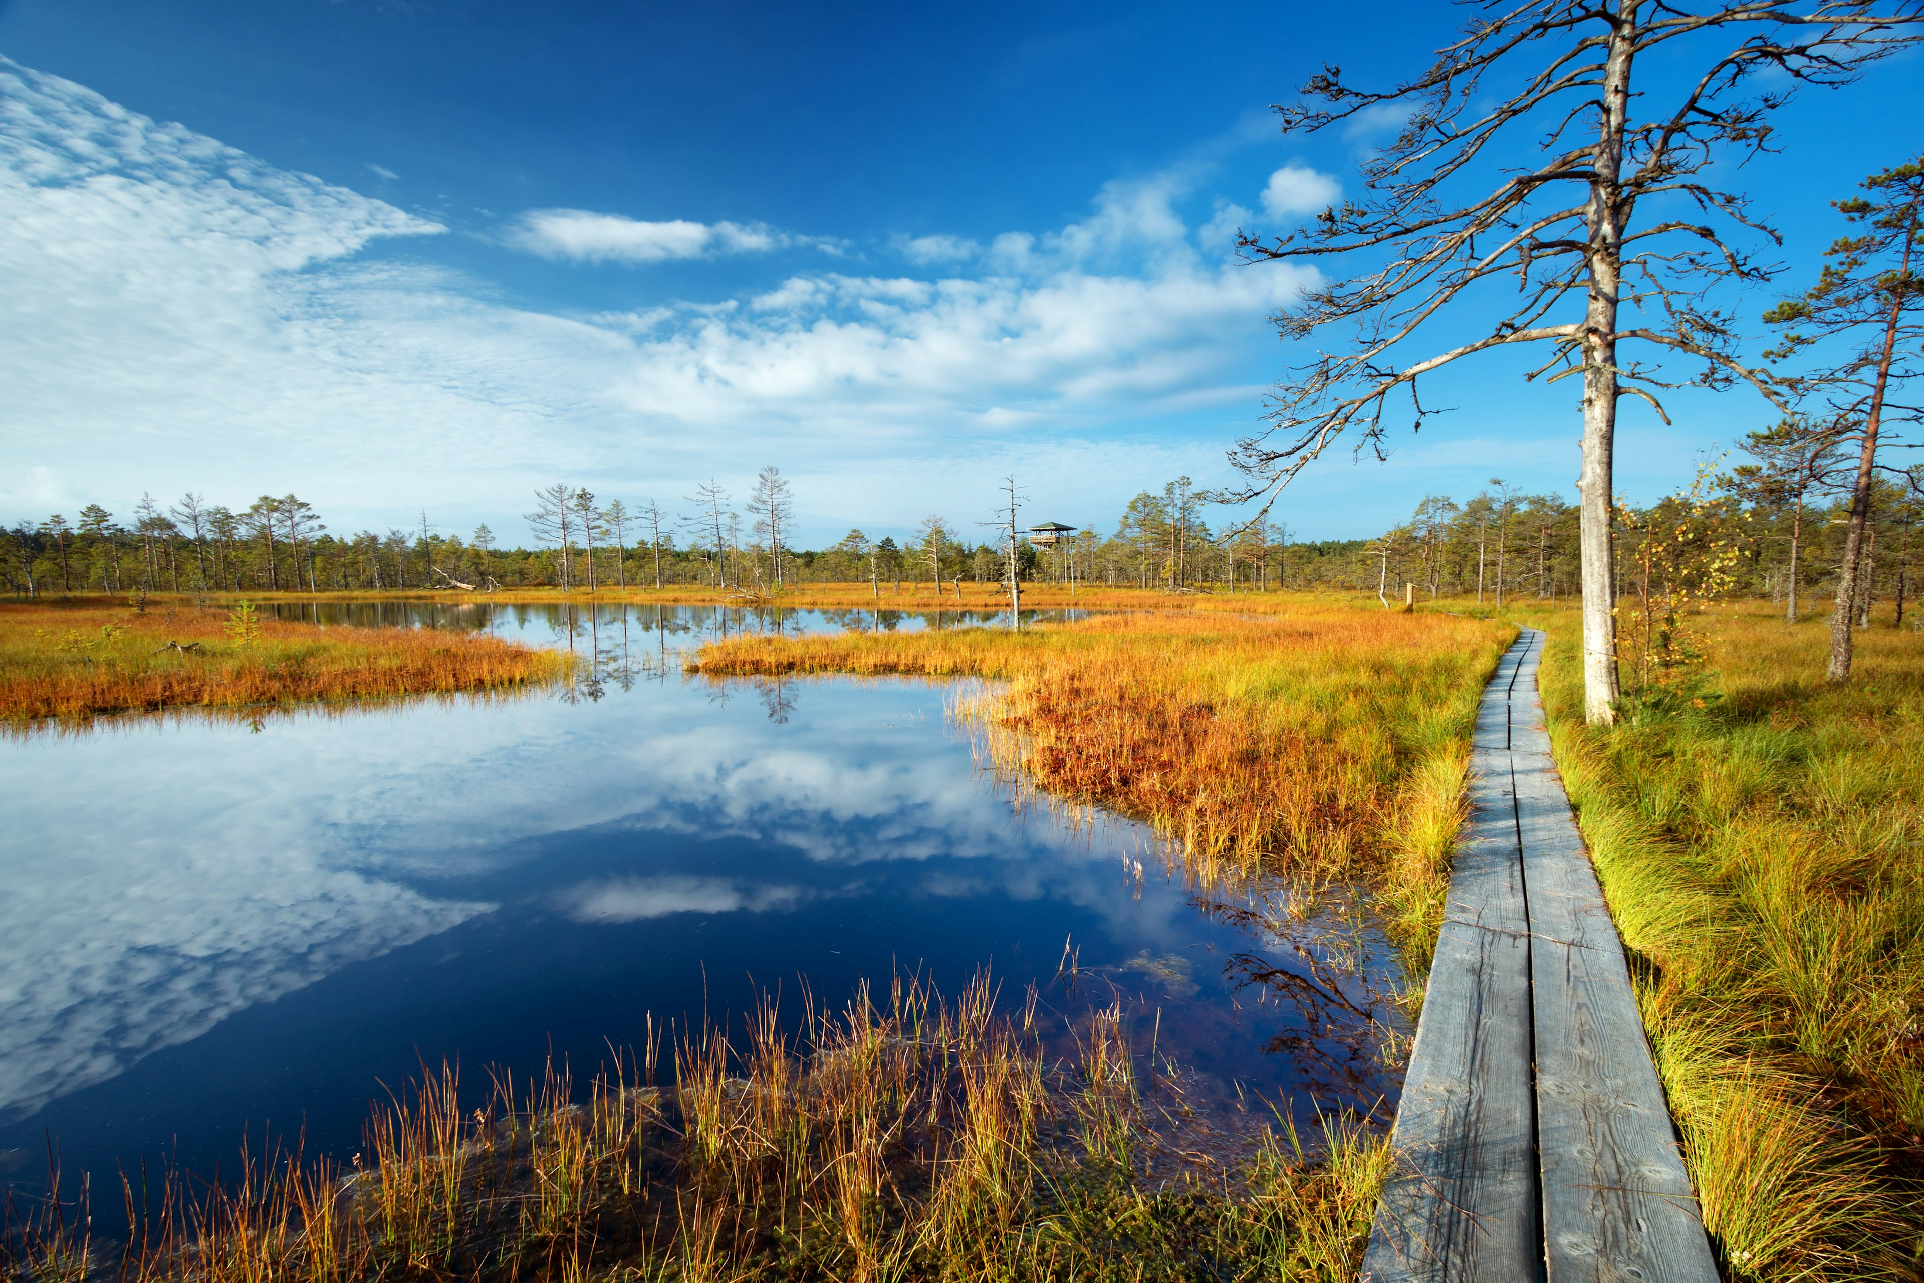
[[[1551,758],[1535,652],[1510,706],[1549,1281],[1714,1283],[1622,943]]]

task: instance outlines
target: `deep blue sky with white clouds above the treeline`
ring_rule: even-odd
[[[1237,265],[1356,190],[1281,138],[1324,62],[1418,69],[1460,13],[1354,6],[0,2],[0,517],[296,491],[337,531],[489,521],[537,485],[681,510],[764,464],[802,542],[1027,514],[1108,529],[1228,479],[1304,281]],[[1787,233],[1916,148],[1916,58],[1782,117],[1734,179]],[[1730,179],[1726,179],[1730,181]],[[1728,302],[1755,317],[1770,294]],[[1301,356],[1301,354],[1299,354]],[[1572,494],[1574,387],[1489,360],[1389,464],[1285,498],[1358,537],[1491,475]],[[1764,421],[1626,410],[1647,500]]]

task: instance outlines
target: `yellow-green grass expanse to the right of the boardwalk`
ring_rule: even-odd
[[[1574,617],[1545,706],[1705,1225],[1737,1279],[1924,1266],[1924,652],[1705,617],[1695,683],[1582,725]]]

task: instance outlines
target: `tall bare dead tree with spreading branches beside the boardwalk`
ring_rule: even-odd
[[[1464,35],[1420,77],[1374,92],[1326,67],[1303,102],[1278,108],[1283,133],[1316,133],[1358,113],[1406,112],[1395,142],[1364,165],[1366,196],[1324,210],[1289,237],[1241,237],[1251,260],[1322,262],[1370,254],[1376,265],[1303,294],[1278,314],[1285,339],[1347,321],[1354,340],[1322,352],[1281,385],[1270,427],[1237,442],[1245,498],[1268,496],[1349,429],[1381,452],[1391,398],[1414,425],[1437,414],[1418,379],[1480,352],[1547,346],[1530,379],[1583,381],[1580,542],[1583,706],[1614,719],[1616,629],[1610,583],[1610,479],[1616,404],[1658,390],[1749,383],[1784,404],[1776,381],[1737,358],[1714,287],[1766,279],[1739,240],[1776,233],[1707,171],[1735,169],[1770,144],[1772,117],[1799,85],[1837,87],[1918,38],[1918,0],[1497,0],[1474,6]],[[1637,79],[1643,56],[1660,75]],[[1684,71],[1680,71],[1684,67]],[[1497,83],[1516,83],[1495,96]],[[1364,117],[1368,119],[1368,117]],[[1645,225],[1635,223],[1649,202]],[[1743,233],[1743,235],[1739,235]],[[1745,237],[1747,235],[1747,237]],[[1428,356],[1431,321],[1514,300],[1468,342]],[[1481,315],[1481,314],[1478,314]],[[1632,360],[1624,344],[1653,356]],[[1666,377],[1664,360],[1697,369]]]

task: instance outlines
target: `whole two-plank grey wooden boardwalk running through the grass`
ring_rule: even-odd
[[[1624,948],[1551,762],[1526,629],[1483,692],[1474,806],[1397,1114],[1370,1283],[1714,1283]]]

